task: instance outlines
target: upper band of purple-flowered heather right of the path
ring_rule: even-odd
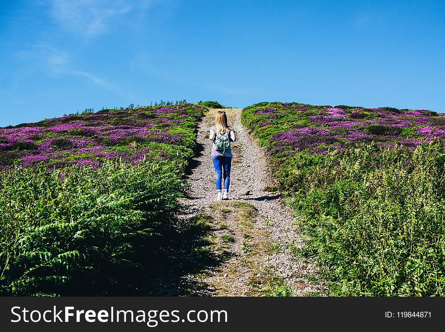
[[[414,149],[445,137],[445,114],[428,110],[261,103],[244,109],[243,118],[261,143],[279,155],[303,150],[326,154],[360,142]]]

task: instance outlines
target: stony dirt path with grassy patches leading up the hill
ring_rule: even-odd
[[[198,128],[201,152],[189,174],[189,197],[181,200],[181,218],[204,218],[207,245],[217,264],[201,266],[188,274],[187,284],[199,284],[191,295],[259,296],[319,292],[315,268],[298,252],[302,242],[293,227],[294,218],[282,204],[259,148],[240,121],[240,109],[226,109],[229,125],[236,131],[229,201],[215,202],[215,177],[210,159],[211,109]],[[246,195],[248,192],[248,195]]]

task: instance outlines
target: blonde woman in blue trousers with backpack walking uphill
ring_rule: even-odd
[[[227,124],[226,112],[218,111],[215,126],[210,128],[212,161],[216,176],[216,201],[229,199],[230,168],[232,165],[231,142],[236,141],[235,131]],[[224,176],[224,192],[221,193],[221,176]]]

